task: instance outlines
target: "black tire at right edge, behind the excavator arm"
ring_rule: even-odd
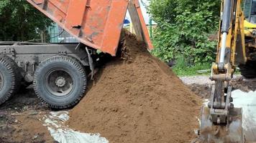
[[[256,78],[256,61],[247,61],[246,64],[240,64],[241,75],[247,79]]]

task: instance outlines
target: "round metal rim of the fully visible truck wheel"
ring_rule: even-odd
[[[58,97],[69,94],[73,89],[73,79],[67,71],[52,70],[45,77],[47,90]]]

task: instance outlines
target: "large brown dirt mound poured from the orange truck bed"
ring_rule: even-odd
[[[127,32],[126,32],[127,33]],[[200,102],[132,34],[96,75],[70,112],[70,127],[100,133],[109,142],[189,142],[198,128]]]

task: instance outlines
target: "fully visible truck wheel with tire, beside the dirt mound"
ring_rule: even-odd
[[[72,107],[86,91],[86,71],[70,56],[54,56],[42,61],[34,76],[37,97],[54,109]]]

